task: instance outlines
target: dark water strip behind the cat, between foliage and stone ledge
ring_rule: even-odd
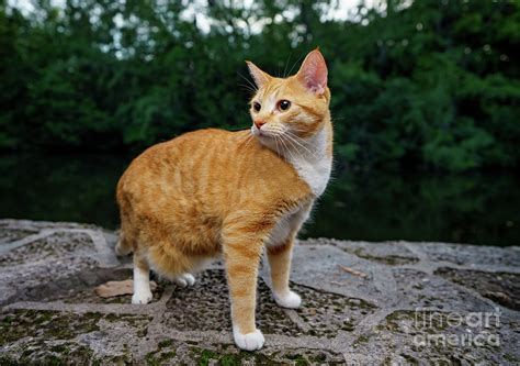
[[[118,225],[115,185],[129,159],[106,155],[0,157],[0,218]],[[520,177],[337,174],[305,236],[520,244]]]

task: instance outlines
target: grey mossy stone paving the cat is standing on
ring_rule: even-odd
[[[301,241],[279,308],[259,279],[259,352],[233,343],[221,263],[191,288],[158,279],[154,300],[102,299],[132,277],[116,234],[0,220],[0,364],[366,365],[520,363],[520,247]]]

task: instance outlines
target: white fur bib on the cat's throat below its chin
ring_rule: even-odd
[[[332,157],[327,154],[328,141],[327,130],[324,127],[308,141],[299,145],[293,144],[292,149],[285,154],[285,158],[316,197],[325,191],[332,169]]]

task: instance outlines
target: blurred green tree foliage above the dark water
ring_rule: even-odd
[[[518,2],[388,0],[327,20],[335,3],[0,1],[0,149],[143,149],[245,129],[244,60],[287,75],[319,45],[340,164],[518,167]]]

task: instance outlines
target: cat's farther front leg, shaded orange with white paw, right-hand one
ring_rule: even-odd
[[[268,247],[274,301],[289,309],[296,309],[302,303],[299,295],[289,288],[293,244],[294,237],[291,236],[283,244]]]

